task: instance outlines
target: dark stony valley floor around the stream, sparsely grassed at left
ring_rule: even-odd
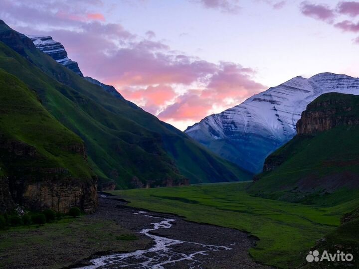
[[[47,224],[43,227],[18,228],[0,233],[0,268],[3,269],[61,269],[90,265],[90,260],[103,255],[149,249],[154,241],[138,232],[151,227],[154,218],[176,219],[169,229],[152,233],[161,237],[199,244],[226,246],[231,250],[196,255],[196,268],[233,269],[267,268],[255,263],[248,255],[255,238],[246,233],[213,225],[184,221],[175,215],[154,212],[135,214],[131,208],[114,196],[99,199],[99,208],[93,215],[65,223]],[[146,216],[147,215],[147,216]],[[215,217],[215,216],[214,216]],[[135,235],[136,239],[123,240]],[[171,246],[175,253],[186,254],[200,245],[178,244]],[[156,256],[156,253],[151,255]],[[186,269],[193,261],[165,265],[164,268]],[[111,268],[111,267],[106,267]],[[115,268],[115,267],[113,267]],[[131,267],[139,268],[139,267]]]

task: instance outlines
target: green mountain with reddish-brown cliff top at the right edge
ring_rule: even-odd
[[[297,132],[266,158],[250,193],[329,206],[359,198],[359,96],[321,95]]]

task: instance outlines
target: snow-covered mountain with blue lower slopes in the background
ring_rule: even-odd
[[[257,173],[264,159],[296,134],[296,123],[307,105],[328,92],[359,95],[359,78],[333,73],[309,79],[298,76],[238,106],[207,116],[185,133]]]

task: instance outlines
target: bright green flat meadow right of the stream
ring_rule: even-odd
[[[250,250],[263,264],[295,268],[318,239],[340,225],[341,216],[358,207],[355,199],[334,207],[250,196],[249,183],[206,184],[176,188],[113,191],[130,206],[175,213],[194,222],[247,231],[259,238]]]

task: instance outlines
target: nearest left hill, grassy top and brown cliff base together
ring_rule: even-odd
[[[15,204],[93,212],[96,177],[86,158],[81,138],[51,116],[24,83],[0,69],[0,212]]]

